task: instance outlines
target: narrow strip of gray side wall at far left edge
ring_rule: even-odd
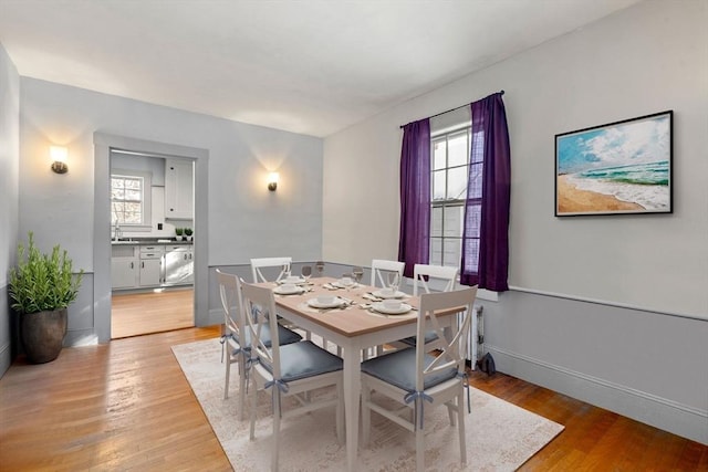
[[[13,323],[7,295],[8,271],[17,261],[20,77],[0,44],[0,377],[10,366]]]

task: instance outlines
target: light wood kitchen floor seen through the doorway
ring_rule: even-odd
[[[194,290],[114,293],[111,297],[111,336],[137,336],[187,328],[194,322]]]

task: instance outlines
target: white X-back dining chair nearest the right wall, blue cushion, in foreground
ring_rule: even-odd
[[[467,463],[464,346],[467,345],[469,336],[476,296],[477,286],[420,295],[416,347],[384,354],[362,363],[363,444],[369,441],[371,415],[372,410],[376,411],[415,433],[416,469],[421,472],[425,469],[426,403],[430,407],[445,405],[451,426],[455,426],[455,412],[457,412],[460,459],[462,464]],[[450,312],[459,312],[460,307],[464,307],[465,316],[455,335],[449,343],[440,345],[437,356],[428,354],[424,340],[425,333],[435,331],[440,339],[446,339],[438,317],[449,316]],[[385,402],[374,401],[373,391],[398,401],[404,408],[387,408]],[[469,390],[467,408],[470,408]]]

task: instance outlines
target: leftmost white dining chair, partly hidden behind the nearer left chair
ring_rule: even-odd
[[[242,281],[226,272],[217,269],[217,281],[219,282],[219,296],[221,298],[221,307],[223,308],[225,331],[221,336],[221,358],[223,359],[225,350],[228,353],[226,359],[226,378],[223,384],[223,399],[229,398],[229,380],[231,377],[231,364],[238,364],[239,373],[239,419],[243,420],[243,409],[246,406],[246,387],[247,363],[251,349],[250,336],[248,331],[243,329],[243,300],[241,297]],[[302,339],[298,333],[294,333],[279,325],[278,339],[282,344],[298,343]],[[271,344],[270,329],[266,329],[262,334],[263,343],[268,346]]]

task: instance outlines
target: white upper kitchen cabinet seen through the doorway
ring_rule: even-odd
[[[194,218],[195,185],[194,161],[165,159],[165,218]]]

